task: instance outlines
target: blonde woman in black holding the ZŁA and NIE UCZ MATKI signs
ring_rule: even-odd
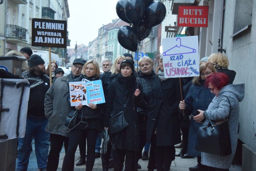
[[[74,79],[73,82],[81,82],[82,79],[89,81],[99,80],[100,68],[94,60],[88,60],[83,68],[80,78]],[[87,161],[86,171],[92,171],[95,161],[95,144],[98,133],[103,130],[102,115],[100,108],[102,104],[88,103],[87,105],[76,105],[75,109],[80,110],[77,118],[77,126],[69,132],[68,150],[65,154],[62,171],[74,170],[74,158],[78,143],[83,135],[87,141]]]

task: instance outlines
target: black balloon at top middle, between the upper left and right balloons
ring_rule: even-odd
[[[127,0],[124,8],[125,15],[132,24],[139,26],[144,18],[145,8],[142,0]]]

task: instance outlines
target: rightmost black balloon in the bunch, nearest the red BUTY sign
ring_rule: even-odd
[[[151,28],[160,24],[166,15],[166,7],[162,2],[153,2],[146,8],[145,24],[146,27]]]

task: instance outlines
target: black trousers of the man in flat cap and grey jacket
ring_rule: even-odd
[[[56,171],[59,165],[60,151],[62,149],[63,143],[65,152],[68,149],[68,137],[64,137],[58,134],[50,134],[51,148],[48,154],[47,160],[47,171]]]

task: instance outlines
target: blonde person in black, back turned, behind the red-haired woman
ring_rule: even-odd
[[[220,52],[211,54],[207,62],[211,62],[216,68],[217,72],[222,72],[228,75],[228,78],[229,78],[228,84],[232,84],[234,82],[236,77],[236,72],[228,69],[229,62],[226,55]]]

